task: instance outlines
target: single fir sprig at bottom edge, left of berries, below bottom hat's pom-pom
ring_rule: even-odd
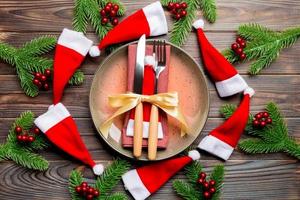
[[[201,194],[197,192],[190,184],[181,181],[181,180],[175,180],[173,182],[173,188],[179,194],[181,197],[187,200],[199,200],[202,198]]]

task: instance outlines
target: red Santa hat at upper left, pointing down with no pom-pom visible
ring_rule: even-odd
[[[64,29],[58,38],[53,66],[53,103],[60,102],[64,88],[80,66],[93,42],[83,33]]]

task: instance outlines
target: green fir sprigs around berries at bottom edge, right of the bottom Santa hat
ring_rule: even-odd
[[[175,180],[173,182],[173,188],[182,198],[187,200],[204,200],[203,192],[204,189],[202,185],[198,184],[199,174],[203,171],[203,168],[198,161],[194,161],[191,165],[186,168],[186,176],[188,182],[182,180]],[[209,179],[216,181],[216,193],[211,199],[220,199],[220,194],[222,190],[223,180],[224,180],[224,166],[217,165],[214,167]]]

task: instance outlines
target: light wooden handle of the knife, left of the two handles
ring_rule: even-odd
[[[138,158],[142,155],[143,142],[143,103],[135,107],[134,134],[133,134],[133,156]]]

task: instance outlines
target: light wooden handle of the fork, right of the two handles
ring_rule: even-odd
[[[158,108],[151,106],[149,137],[148,137],[148,159],[155,160],[157,153],[157,135],[158,135]]]

